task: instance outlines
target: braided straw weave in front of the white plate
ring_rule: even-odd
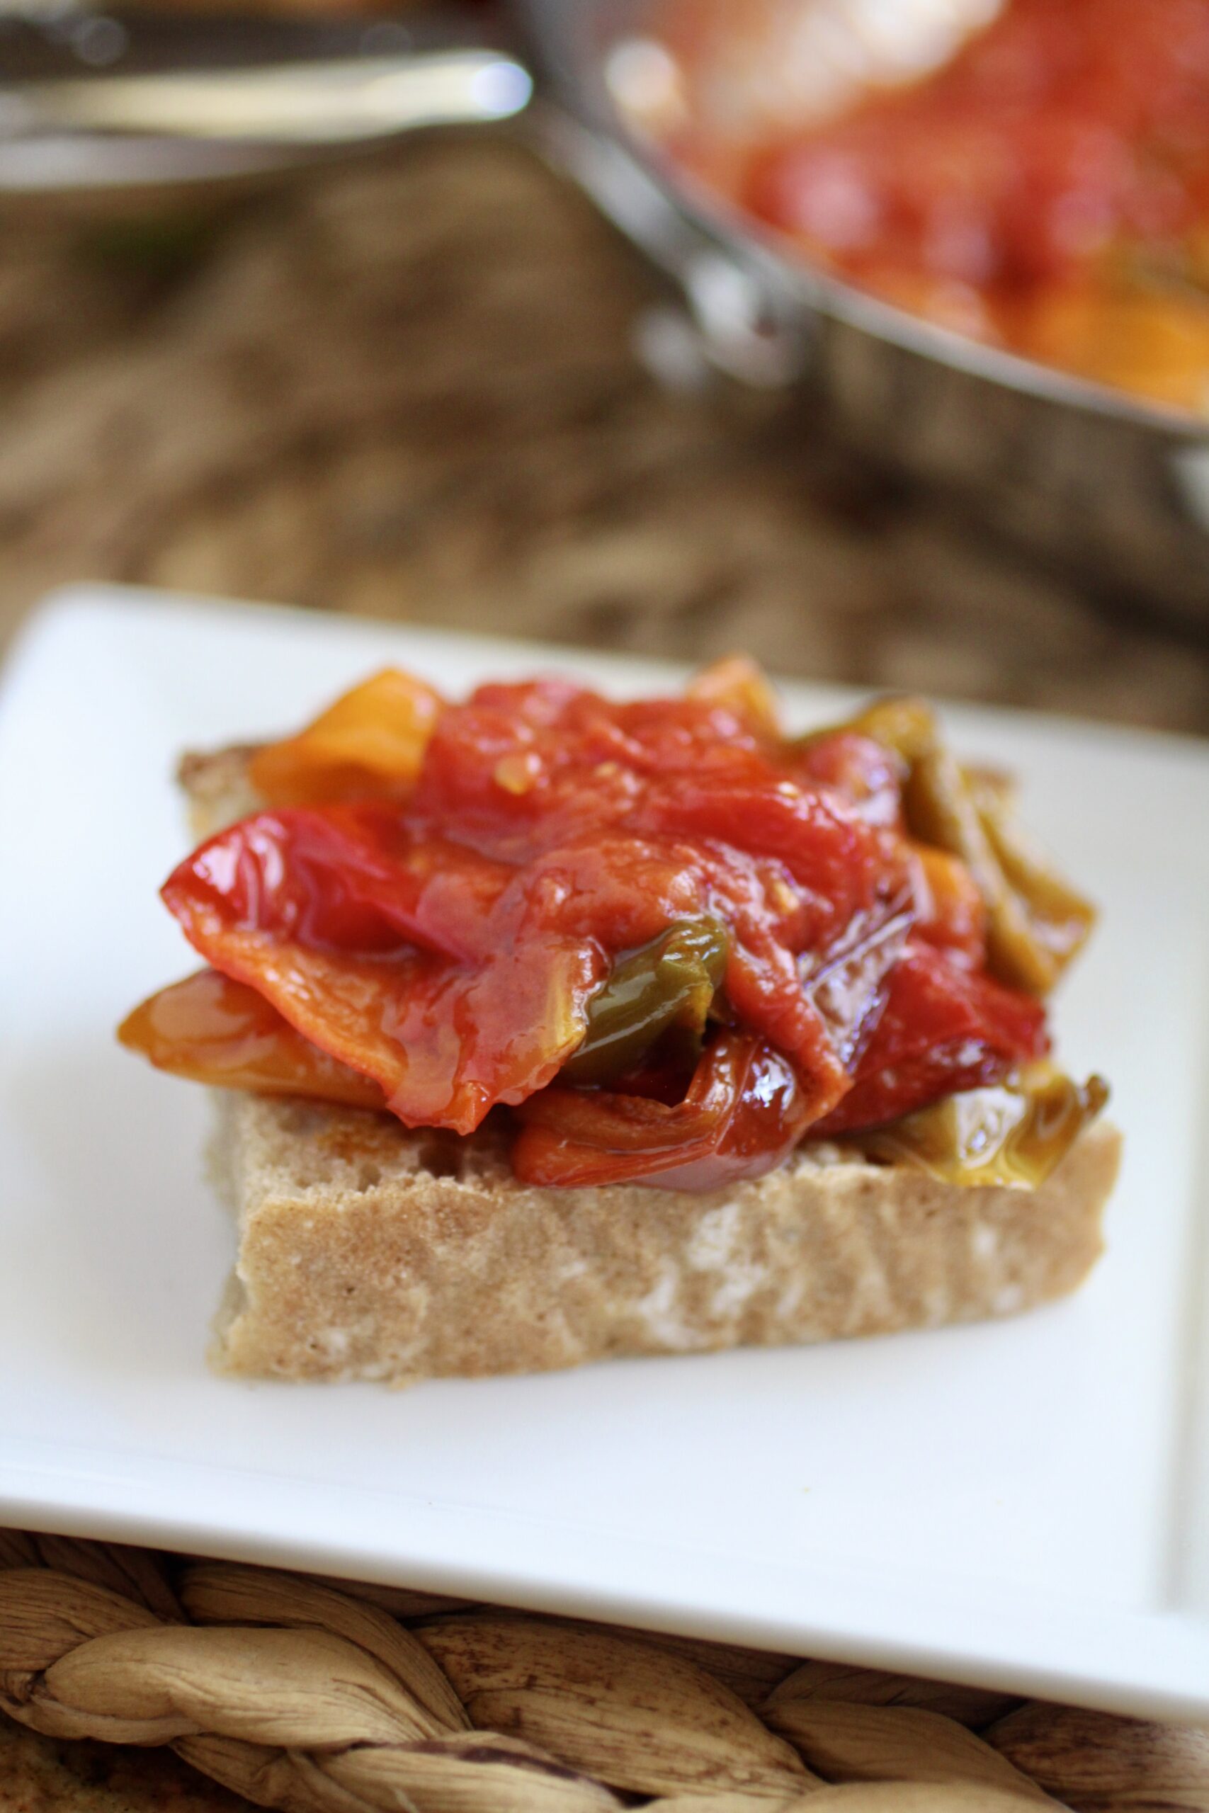
[[[1209,1813],[1209,1731],[4,1530],[0,1706],[290,1813]]]

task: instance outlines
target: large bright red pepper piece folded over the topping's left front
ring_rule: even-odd
[[[595,943],[526,919],[509,874],[408,841],[392,814],[265,812],[201,845],[163,897],[214,968],[373,1077],[401,1120],[471,1133],[556,1075],[604,975]]]

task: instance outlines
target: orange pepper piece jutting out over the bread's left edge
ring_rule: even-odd
[[[150,995],[123,1019],[118,1039],[158,1070],[214,1088],[386,1108],[377,1082],[305,1039],[259,990],[218,970]]]

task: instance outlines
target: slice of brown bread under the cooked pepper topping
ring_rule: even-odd
[[[247,751],[181,767],[198,836],[250,810]],[[805,1146],[709,1195],[529,1189],[488,1122],[216,1091],[239,1229],[219,1371],[408,1383],[611,1354],[885,1334],[1030,1309],[1100,1253],[1120,1137],[1091,1126],[1035,1191],[962,1189]]]

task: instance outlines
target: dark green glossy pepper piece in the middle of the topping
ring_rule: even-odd
[[[567,1082],[607,1084],[633,1070],[662,1033],[683,1028],[694,1044],[727,968],[720,919],[678,919],[613,965],[587,1003],[587,1032],[562,1066]]]

